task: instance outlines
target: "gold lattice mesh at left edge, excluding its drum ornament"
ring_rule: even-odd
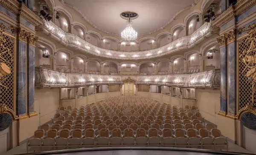
[[[10,69],[9,75],[0,77],[3,78],[0,80],[0,104],[6,104],[9,109],[15,111],[13,103],[15,38],[3,33],[0,39],[3,43],[3,46],[0,46],[0,63],[5,63]]]

